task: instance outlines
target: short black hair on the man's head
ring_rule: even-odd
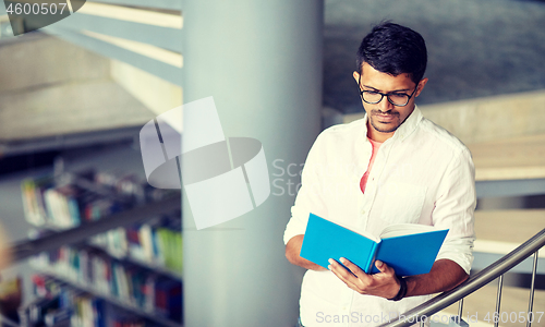
[[[419,84],[426,71],[426,44],[417,32],[391,22],[383,22],[373,27],[358,49],[359,73],[364,62],[393,76],[409,74],[411,80]]]

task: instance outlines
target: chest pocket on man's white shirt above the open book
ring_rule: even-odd
[[[426,198],[425,186],[391,182],[382,190],[384,197],[380,219],[396,223],[417,223]]]

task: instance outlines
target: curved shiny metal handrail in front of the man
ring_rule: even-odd
[[[403,319],[386,323],[379,327],[405,327],[414,325],[415,322],[422,322],[440,310],[451,305],[452,303],[465,298],[480,288],[486,286],[492,280],[504,275],[522,261],[536,253],[542,246],[545,245],[545,229],[536,233],[534,237],[522,243],[519,247],[514,249],[504,257],[499,258],[488,267],[479,271],[468,280],[462,282],[457,288],[444,292],[421,305],[402,314]]]

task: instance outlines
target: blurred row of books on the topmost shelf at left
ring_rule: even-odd
[[[92,170],[25,179],[21,191],[28,222],[61,229],[95,221],[174,193],[154,189],[132,174]]]

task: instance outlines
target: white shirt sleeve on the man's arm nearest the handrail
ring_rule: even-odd
[[[451,259],[467,274],[473,263],[475,240],[475,169],[469,149],[460,152],[445,172],[433,211],[434,226],[449,229],[437,259]]]

